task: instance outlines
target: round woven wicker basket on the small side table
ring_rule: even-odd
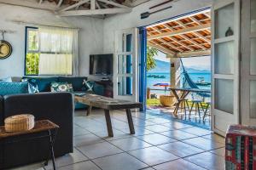
[[[28,114],[9,116],[4,120],[7,133],[31,130],[35,126],[35,117]]]

